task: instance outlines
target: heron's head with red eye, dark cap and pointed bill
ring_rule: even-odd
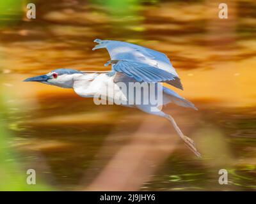
[[[55,69],[45,75],[27,78],[24,82],[40,82],[63,88],[72,88],[74,78],[80,77],[81,75],[84,75],[84,73],[75,69]]]

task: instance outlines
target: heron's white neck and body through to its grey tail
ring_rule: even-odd
[[[125,105],[125,101],[129,101],[129,83],[136,83],[136,80],[132,80],[132,78],[129,79],[129,81],[123,83],[126,85],[127,89],[124,90],[122,87],[118,85],[118,83],[114,82],[114,79],[116,77],[115,72],[110,73],[83,73],[81,75],[77,75],[74,77],[74,85],[72,88],[74,91],[81,97],[84,98],[93,98],[95,96],[105,96],[106,99],[113,99],[113,103],[116,102],[116,105]],[[128,77],[126,77],[128,78]],[[134,95],[136,96],[137,92],[140,92],[142,95],[141,98],[143,98],[143,91],[140,88],[142,87],[141,83],[132,84],[134,86]],[[149,85],[149,84],[148,84]],[[154,93],[150,94],[150,92],[147,92],[147,100],[150,100],[150,98],[157,99],[157,91],[163,92],[163,99],[159,99],[159,102],[156,104],[157,106],[166,105],[168,103],[175,103],[180,106],[193,108],[196,110],[195,105],[191,103],[190,101],[182,98],[174,92],[172,89],[168,89],[167,87],[164,87],[161,83],[154,83],[151,84],[155,91]],[[159,90],[157,90],[156,86],[159,86]],[[146,90],[147,91],[147,90]],[[120,104],[120,99],[124,98],[124,104]],[[142,99],[141,99],[142,100]],[[140,107],[141,104],[136,104],[136,98],[134,97],[134,101],[131,102],[132,104],[129,105],[129,107]],[[143,102],[142,102],[143,103]],[[152,104],[148,104],[148,106],[153,106]],[[156,107],[158,108],[158,107]]]

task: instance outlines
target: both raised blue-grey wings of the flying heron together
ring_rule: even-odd
[[[106,48],[111,61],[122,61],[122,63],[118,62],[112,65],[112,69],[115,71],[121,70],[127,76],[134,77],[138,81],[166,82],[183,89],[179,75],[165,54],[122,41],[97,39],[95,42],[99,45],[96,45],[93,50]],[[117,64],[118,66],[116,66]]]

